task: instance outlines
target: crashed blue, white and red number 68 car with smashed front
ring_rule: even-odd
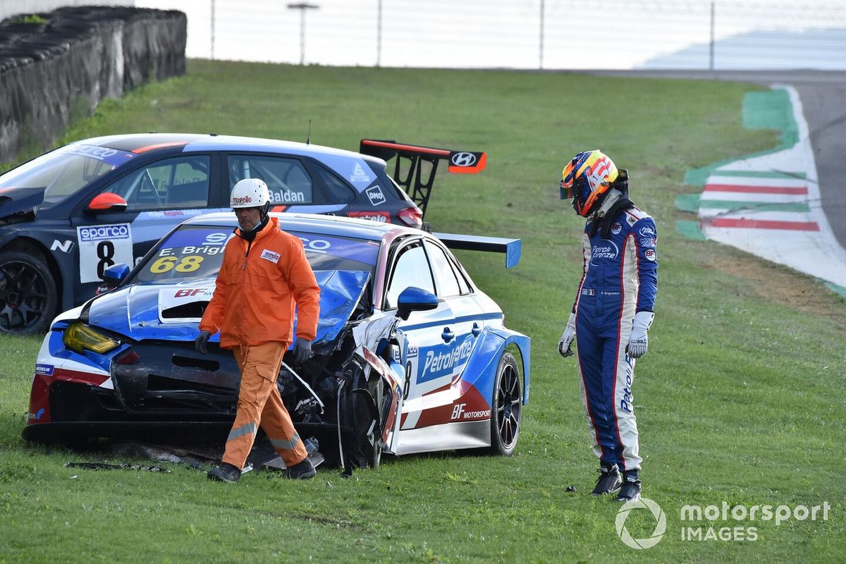
[[[476,449],[511,455],[530,381],[530,338],[449,248],[497,251],[519,239],[430,234],[344,217],[272,214],[304,244],[321,287],[313,355],[286,354],[277,386],[299,435],[327,462],[379,465],[403,455]],[[233,213],[191,218],[135,268],[107,269],[115,287],[54,320],[38,354],[23,436],[167,443],[233,422],[239,372],[198,323],[214,291]]]

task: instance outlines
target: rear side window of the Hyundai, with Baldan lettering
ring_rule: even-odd
[[[261,178],[270,191],[272,204],[297,205],[314,202],[311,176],[299,159],[286,156],[229,155],[229,189],[244,178]]]

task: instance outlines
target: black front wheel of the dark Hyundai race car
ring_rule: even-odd
[[[0,332],[46,332],[57,303],[56,281],[41,256],[0,253]]]

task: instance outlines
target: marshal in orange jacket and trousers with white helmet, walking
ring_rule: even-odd
[[[222,463],[209,479],[234,482],[241,476],[259,426],[288,468],[288,478],[308,479],[315,473],[288,410],[279,396],[277,376],[283,354],[297,336],[294,362],[311,353],[317,331],[320,287],[302,241],[269,217],[270,194],[258,178],[246,178],[232,189],[231,205],[238,225],[223,251],[214,294],[200,321],[195,348],[205,354],[209,337],[220,331],[220,346],[231,348],[241,373],[235,422]]]

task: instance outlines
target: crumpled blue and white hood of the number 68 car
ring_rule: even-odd
[[[321,287],[315,342],[331,342],[338,337],[359,303],[370,281],[370,273],[316,271],[315,277]],[[118,288],[91,302],[87,312],[88,323],[135,341],[193,341],[201,312],[211,299],[214,286],[214,280],[195,280]]]

